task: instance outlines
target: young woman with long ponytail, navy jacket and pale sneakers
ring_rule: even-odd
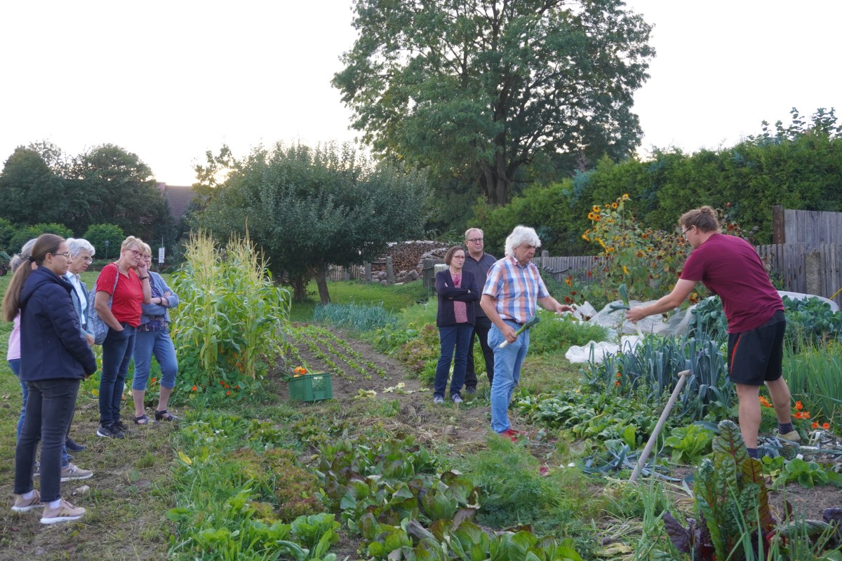
[[[16,512],[44,508],[41,522],[78,520],[85,509],[61,500],[61,448],[76,407],[79,381],[97,369],[73,309],[67,273],[71,253],[60,236],[42,234],[29,262],[15,271],[3,299],[3,318],[20,313],[20,378],[27,384],[24,429],[14,457]],[[35,490],[35,449],[41,441],[40,494]]]

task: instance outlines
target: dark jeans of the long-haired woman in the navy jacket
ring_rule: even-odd
[[[61,499],[61,449],[76,409],[79,380],[54,378],[27,382],[24,431],[14,453],[14,494],[35,489],[32,468],[41,441],[41,502]]]

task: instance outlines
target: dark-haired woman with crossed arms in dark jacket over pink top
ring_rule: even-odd
[[[462,384],[465,383],[465,369],[468,361],[468,347],[471,343],[475,321],[474,308],[470,304],[480,297],[477,279],[462,270],[465,264],[465,250],[453,246],[445,255],[448,268],[435,273],[435,292],[439,295],[439,311],[435,325],[439,327],[441,356],[435,368],[433,402],[445,402],[447,375],[453,363],[453,378],[450,380],[450,400],[461,403]],[[456,355],[454,355],[454,347]]]

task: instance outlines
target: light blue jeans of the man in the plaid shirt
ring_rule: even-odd
[[[514,321],[506,321],[508,325],[518,330]],[[494,381],[491,384],[491,428],[495,432],[507,431],[509,425],[509,401],[512,400],[514,386],[520,381],[520,365],[523,364],[526,352],[529,351],[529,330],[518,336],[518,340],[509,343],[502,349],[500,343],[505,341],[503,333],[497,325],[488,331],[488,346],[494,350]]]

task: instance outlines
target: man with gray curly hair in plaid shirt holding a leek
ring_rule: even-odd
[[[520,431],[509,424],[509,401],[520,381],[520,365],[529,350],[529,330],[515,331],[536,315],[536,303],[557,314],[572,312],[546,290],[538,267],[532,262],[541,246],[535,229],[517,226],[506,238],[506,257],[488,270],[480,305],[493,325],[488,346],[494,350],[494,381],[491,386],[491,428],[499,435],[517,440]],[[506,346],[500,345],[506,341]]]

